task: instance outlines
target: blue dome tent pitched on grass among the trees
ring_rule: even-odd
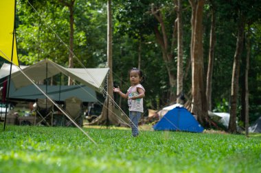
[[[204,129],[184,107],[175,107],[155,124],[155,131],[190,131],[201,133]]]

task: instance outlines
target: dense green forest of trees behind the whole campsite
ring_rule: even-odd
[[[63,40],[86,68],[108,66],[108,4],[112,14],[113,85],[126,91],[128,70],[137,67],[146,75],[146,109],[161,109],[180,96],[192,104],[196,97],[193,64],[198,62],[200,70],[196,72],[202,70],[202,79],[196,82],[201,85],[199,92],[205,94],[201,101],[207,109],[231,113],[236,97],[232,109],[242,127],[246,112],[250,123],[261,116],[260,1],[17,1],[20,64],[49,58],[62,66],[82,68],[71,60],[73,55],[61,43]],[[202,53],[193,59],[195,50],[199,50],[192,46],[197,15],[202,17],[198,19],[201,32],[195,32],[202,36]],[[3,59],[0,61],[3,64]],[[117,95],[115,101],[128,111],[126,101]]]

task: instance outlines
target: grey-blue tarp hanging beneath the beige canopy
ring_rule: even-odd
[[[71,96],[80,98],[82,102],[98,101],[95,90],[84,85],[38,85],[38,87],[54,101],[65,101]],[[11,83],[9,98],[35,101],[37,98],[45,98],[45,95],[34,85],[16,90]]]

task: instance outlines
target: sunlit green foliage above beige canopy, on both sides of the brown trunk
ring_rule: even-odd
[[[23,64],[49,58],[67,66],[69,10],[58,1],[17,3],[17,47]],[[37,12],[35,10],[37,10]],[[87,67],[106,61],[106,10],[98,1],[77,1],[74,8],[73,53]],[[99,28],[99,29],[98,29]],[[66,63],[65,63],[66,62]],[[75,66],[82,66],[74,59]]]

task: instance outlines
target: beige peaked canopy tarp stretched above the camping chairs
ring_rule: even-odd
[[[2,68],[0,74],[1,71]],[[32,66],[23,68],[25,75],[33,81],[43,81],[44,79],[53,77],[61,72],[72,79],[76,79],[76,81],[79,81],[83,85],[93,88],[93,90],[97,92],[102,92],[100,88],[102,88],[102,85],[104,84],[108,71],[109,68],[65,68],[49,59],[44,59]],[[20,70],[12,73],[11,81],[14,83],[16,89],[32,84],[25,75],[23,75]]]

